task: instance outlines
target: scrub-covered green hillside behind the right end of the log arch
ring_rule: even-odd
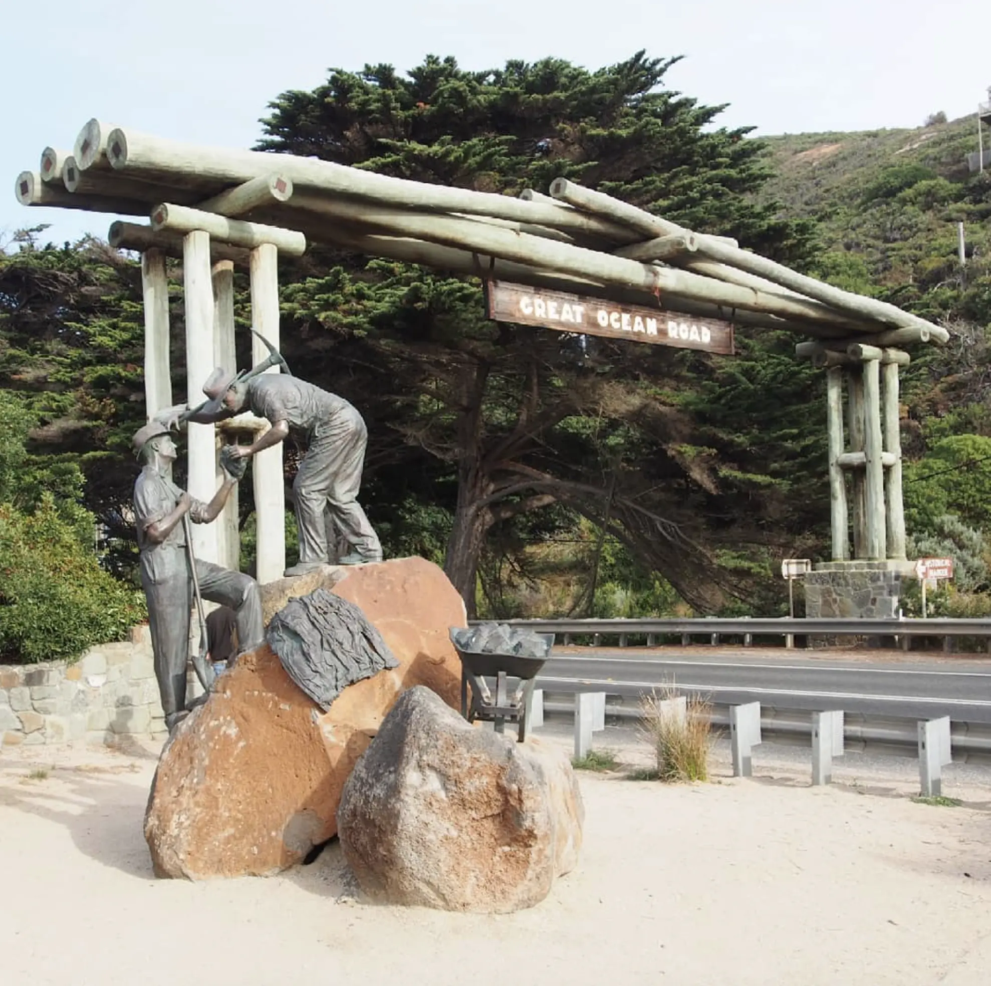
[[[951,330],[947,346],[915,349],[903,379],[911,550],[957,559],[943,611],[991,612],[991,171],[967,169],[974,118],[766,143],[774,176],[761,195],[817,222],[812,273]]]

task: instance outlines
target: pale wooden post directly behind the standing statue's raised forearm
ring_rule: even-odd
[[[182,278],[186,322],[186,400],[190,407],[203,400],[203,383],[213,369],[213,283],[210,273],[210,235],[202,230],[182,240]],[[215,429],[212,424],[189,424],[186,441],[186,489],[209,502],[217,489]],[[193,524],[193,551],[201,561],[217,561],[217,529]]]

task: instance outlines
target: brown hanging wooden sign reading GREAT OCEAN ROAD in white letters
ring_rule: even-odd
[[[733,327],[716,318],[696,318],[662,308],[617,304],[501,280],[491,280],[487,286],[489,317],[496,322],[539,325],[559,332],[701,349],[728,356],[733,353]]]

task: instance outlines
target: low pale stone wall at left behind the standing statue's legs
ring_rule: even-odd
[[[75,664],[0,665],[0,743],[83,739],[119,745],[165,736],[147,625],[131,639],[91,647]]]

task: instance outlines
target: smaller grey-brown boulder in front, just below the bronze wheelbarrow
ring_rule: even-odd
[[[372,899],[504,913],[575,867],[584,817],[564,752],[476,728],[413,688],[356,764],[337,825]]]

